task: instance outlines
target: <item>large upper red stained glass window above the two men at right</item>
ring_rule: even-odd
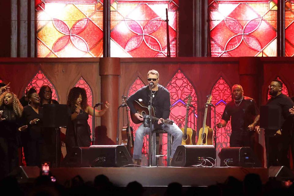
[[[208,0],[211,56],[277,56],[277,0]]]

